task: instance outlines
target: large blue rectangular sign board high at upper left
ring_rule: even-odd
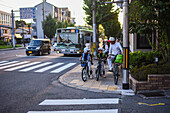
[[[35,19],[36,18],[36,8],[20,8],[20,19]]]

